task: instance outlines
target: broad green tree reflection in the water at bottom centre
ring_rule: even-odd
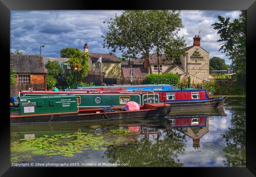
[[[125,146],[109,147],[105,155],[109,163],[128,163],[130,166],[181,167],[178,153],[185,150],[185,137],[180,132],[165,130],[152,142],[147,135]],[[102,157],[103,158],[103,157]]]

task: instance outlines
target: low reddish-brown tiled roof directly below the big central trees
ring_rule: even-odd
[[[124,78],[131,78],[130,71],[131,68],[122,68],[122,74]],[[132,78],[146,78],[148,75],[148,70],[147,68],[132,68],[132,73]]]

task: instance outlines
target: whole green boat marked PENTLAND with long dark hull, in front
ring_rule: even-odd
[[[10,112],[11,125],[163,117],[171,112],[171,106],[164,103],[145,103],[139,111],[123,107],[80,110],[75,95],[24,96],[19,100],[19,109]]]

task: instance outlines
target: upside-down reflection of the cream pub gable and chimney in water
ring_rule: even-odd
[[[200,147],[200,138],[209,131],[209,118],[206,119],[206,127],[185,127],[179,128],[182,133],[193,139],[193,147]]]

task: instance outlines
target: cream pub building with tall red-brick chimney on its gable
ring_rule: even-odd
[[[212,79],[209,76],[209,60],[210,53],[204,50],[200,46],[200,37],[195,36],[193,38],[193,46],[189,46],[185,49],[185,57],[182,55],[180,57],[180,63],[174,64],[174,60],[165,60],[165,55],[159,57],[160,60],[160,72],[161,73],[175,73],[180,76],[180,81],[184,82],[189,76],[191,77],[191,83],[202,83],[208,82]],[[156,54],[149,54],[149,63],[143,58],[143,68],[152,69],[152,73],[158,73],[158,57]]]

